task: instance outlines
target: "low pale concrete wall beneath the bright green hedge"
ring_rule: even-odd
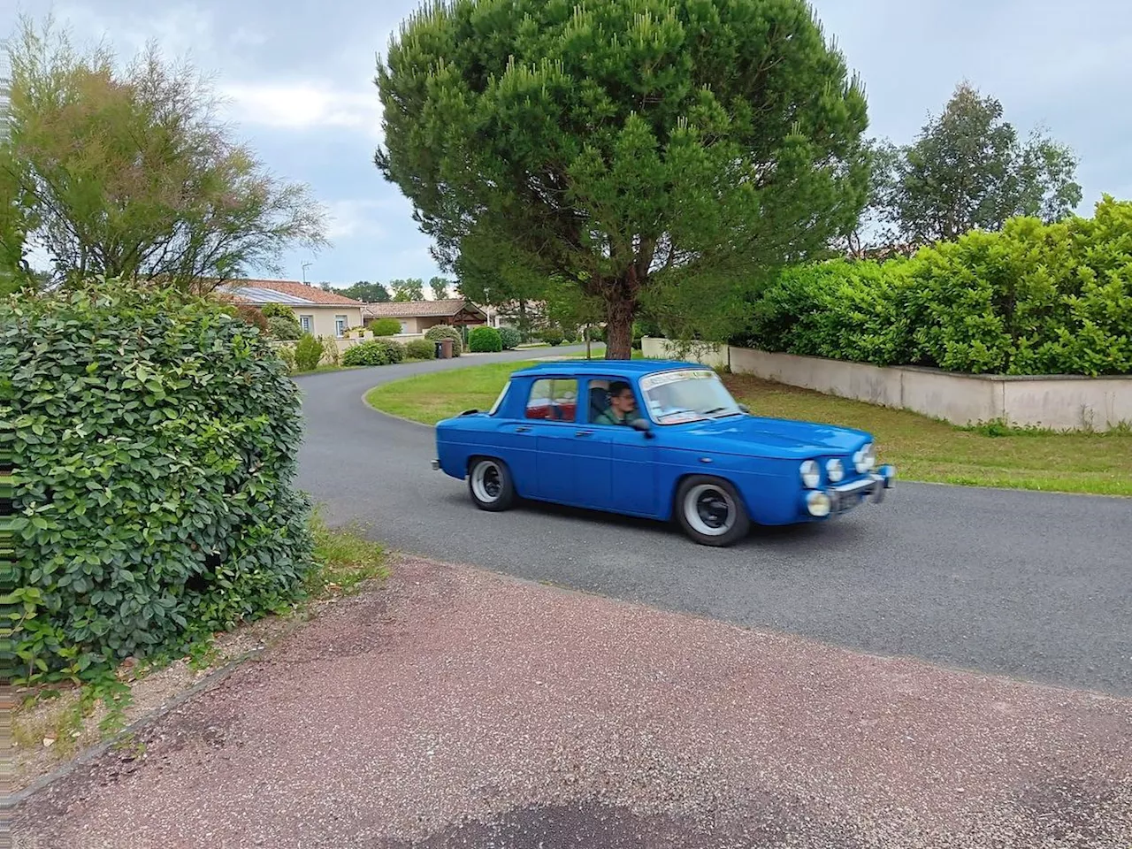
[[[681,352],[667,340],[645,338],[645,357],[674,357],[737,375],[816,389],[827,395],[912,410],[954,424],[1006,421],[1053,430],[1109,430],[1132,423],[1132,376],[957,375],[914,367],[880,368],[818,357],[712,346]],[[703,355],[703,354],[706,355]]]

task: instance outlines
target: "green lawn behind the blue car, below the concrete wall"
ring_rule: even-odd
[[[635,352],[638,353],[638,352]],[[411,377],[371,389],[378,410],[435,424],[470,408],[486,410],[512,371],[534,360]],[[731,393],[757,415],[867,430],[881,462],[904,480],[1132,496],[1132,434],[1049,434],[957,428],[904,410],[727,375]]]

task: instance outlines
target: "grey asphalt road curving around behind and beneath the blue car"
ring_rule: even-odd
[[[604,514],[478,511],[464,482],[429,468],[430,428],[362,401],[410,375],[531,357],[298,378],[300,486],[332,524],[354,522],[398,550],[877,654],[1132,695],[1132,500],[901,481],[883,504],[837,522],[756,529],[711,549]]]

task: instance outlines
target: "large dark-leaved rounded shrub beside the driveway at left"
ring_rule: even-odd
[[[311,566],[298,388],[209,300],[118,283],[0,301],[20,678],[94,678],[283,609]]]

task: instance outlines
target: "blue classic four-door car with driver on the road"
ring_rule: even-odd
[[[486,511],[516,497],[670,521],[729,546],[751,523],[827,520],[881,501],[860,430],[752,415],[704,366],[575,360],[515,371],[487,412],[436,428],[434,469]]]

